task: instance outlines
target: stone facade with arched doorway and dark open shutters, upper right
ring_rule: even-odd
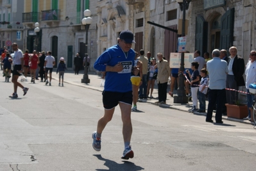
[[[256,1],[223,1],[224,4],[219,1],[219,6],[218,4],[214,6],[212,3],[211,8],[205,9],[204,4],[207,2],[209,0],[194,0],[191,2],[193,10],[189,15],[189,35],[187,35],[187,43],[190,47],[187,50],[200,49],[202,52],[211,53],[215,48],[228,51],[228,48],[234,45],[237,47],[239,56],[244,58],[246,64],[250,51],[256,48],[255,6],[253,6]],[[201,26],[204,31],[196,30],[200,29],[199,22],[204,24]],[[200,43],[196,44],[196,41],[200,39]],[[230,42],[228,43],[228,41]]]

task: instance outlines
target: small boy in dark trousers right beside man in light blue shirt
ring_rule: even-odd
[[[201,76],[201,83],[198,91],[198,100],[199,100],[199,107],[198,110],[200,113],[205,112],[205,95],[207,94],[207,86],[208,86],[208,77],[207,77],[207,70],[201,69],[200,70]]]

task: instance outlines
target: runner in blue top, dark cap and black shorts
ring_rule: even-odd
[[[133,33],[121,31],[117,45],[108,48],[94,63],[94,69],[106,71],[103,91],[104,115],[98,121],[97,131],[92,133],[92,147],[101,150],[101,133],[113,117],[115,106],[119,104],[123,121],[124,152],[122,159],[133,158],[130,141],[132,137],[132,82],[130,81],[135,52],[132,48]]]

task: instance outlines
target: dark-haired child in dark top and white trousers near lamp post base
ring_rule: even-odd
[[[191,112],[198,111],[198,85],[200,81],[200,74],[198,71],[199,63],[197,61],[193,61],[191,63],[191,69],[193,70],[192,75],[190,74],[189,70],[186,70],[186,72],[189,74],[189,77],[191,77],[191,96],[192,96],[192,102],[193,107],[189,110]]]

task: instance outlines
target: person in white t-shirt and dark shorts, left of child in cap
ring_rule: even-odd
[[[51,73],[53,72],[53,66],[55,65],[55,58],[51,56],[51,51],[47,51],[46,59],[44,60],[44,70],[46,72],[46,85],[49,83],[51,86]],[[49,70],[49,81],[48,81],[48,70]]]

